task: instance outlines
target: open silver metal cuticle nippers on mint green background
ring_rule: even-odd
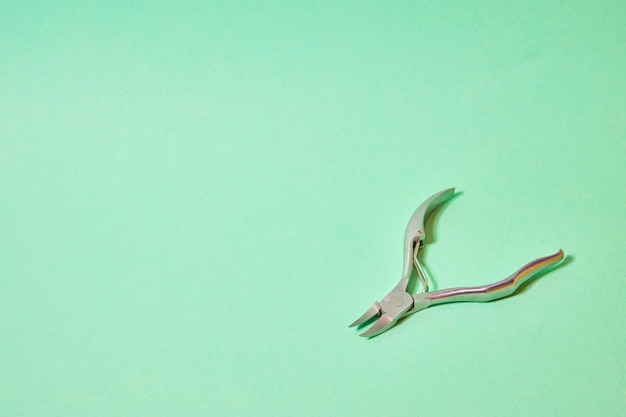
[[[555,266],[563,259],[563,251],[559,250],[553,255],[544,256],[527,263],[509,277],[492,284],[428,291],[428,276],[417,258],[418,251],[424,245],[426,238],[424,222],[434,209],[448,201],[453,195],[454,188],[433,195],[424,201],[409,219],[405,233],[402,278],[385,298],[375,302],[350,325],[350,327],[362,326],[378,317],[372,327],[362,333],[361,336],[377,336],[392,328],[398,320],[433,305],[461,301],[484,302],[506,297],[514,293],[524,282]],[[422,292],[419,294],[408,292],[409,282],[414,271],[422,284]]]

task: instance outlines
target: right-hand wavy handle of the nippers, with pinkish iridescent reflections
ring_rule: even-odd
[[[565,254],[563,251],[559,250],[554,255],[535,259],[518,269],[508,278],[505,278],[502,281],[494,282],[493,284],[478,287],[450,288],[420,294],[424,296],[424,305],[422,308],[443,303],[461,301],[484,302],[504,298],[514,293],[520,285],[528,281],[533,276],[559,263],[564,256]]]

